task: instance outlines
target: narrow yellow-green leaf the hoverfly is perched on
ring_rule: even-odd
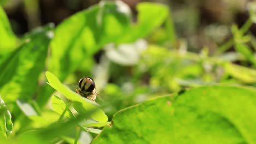
[[[97,103],[95,101],[86,99],[78,95],[77,93],[71,91],[71,89],[67,88],[65,85],[63,85],[59,79],[49,71],[46,71],[45,73],[46,78],[50,84],[51,87],[56,89],[57,91],[61,92],[68,100],[71,100],[72,103],[75,103],[79,105],[79,112],[85,112],[86,111],[94,111],[94,113],[91,114],[91,118],[95,119],[98,122],[107,122],[108,117],[105,115],[104,111],[98,107]],[[76,107],[74,107],[76,108]],[[77,110],[77,109],[76,109]],[[83,114],[80,113],[80,114]]]

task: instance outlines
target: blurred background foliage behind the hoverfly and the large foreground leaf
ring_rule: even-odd
[[[184,88],[256,86],[254,3],[123,2],[0,1],[0,94],[14,134],[45,125],[33,123],[16,102],[48,112],[54,89],[45,70],[69,84],[92,77],[103,99],[96,101],[111,105],[104,109],[109,120],[125,107]]]

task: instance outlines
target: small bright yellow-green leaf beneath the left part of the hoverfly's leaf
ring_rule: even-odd
[[[51,97],[51,106],[53,107],[53,110],[59,113],[60,115],[62,115],[63,111],[67,109],[67,104],[65,104],[65,102],[61,98],[57,97],[56,95]],[[73,114],[69,109],[67,109],[64,116],[71,118],[73,117]]]

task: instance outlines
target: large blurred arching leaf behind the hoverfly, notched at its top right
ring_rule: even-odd
[[[168,9],[164,5],[141,3],[137,9],[137,25],[132,25],[130,9],[120,1],[102,1],[100,5],[80,11],[63,21],[56,27],[55,37],[51,41],[49,71],[63,81],[68,74],[80,67],[84,57],[92,57],[103,45],[129,43],[146,37],[167,19]],[[149,23],[152,17],[158,19]],[[69,32],[72,35],[67,34]],[[49,93],[40,95],[40,105],[49,99],[45,98]]]

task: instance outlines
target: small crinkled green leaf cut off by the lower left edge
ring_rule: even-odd
[[[0,130],[5,137],[8,137],[13,132],[13,122],[11,122],[11,114],[7,109],[0,95]]]

